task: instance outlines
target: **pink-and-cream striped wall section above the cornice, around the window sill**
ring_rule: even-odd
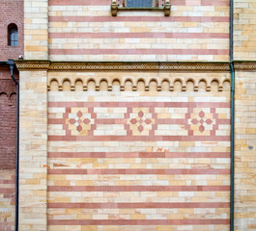
[[[229,0],[173,0],[169,17],[135,11],[114,17],[110,4],[110,0],[50,0],[50,60],[229,60]],[[37,45],[33,38],[30,41]]]

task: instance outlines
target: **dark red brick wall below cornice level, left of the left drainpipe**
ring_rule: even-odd
[[[16,74],[15,74],[15,77]],[[0,68],[0,230],[14,230],[16,94],[9,66]]]

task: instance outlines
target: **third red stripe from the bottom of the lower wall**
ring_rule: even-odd
[[[48,186],[48,192],[229,192],[230,186]]]

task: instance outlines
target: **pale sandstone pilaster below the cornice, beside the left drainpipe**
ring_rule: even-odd
[[[19,73],[19,230],[46,230],[46,71]]]

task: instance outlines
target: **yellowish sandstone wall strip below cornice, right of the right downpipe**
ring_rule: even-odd
[[[236,72],[235,230],[256,230],[255,71]]]

